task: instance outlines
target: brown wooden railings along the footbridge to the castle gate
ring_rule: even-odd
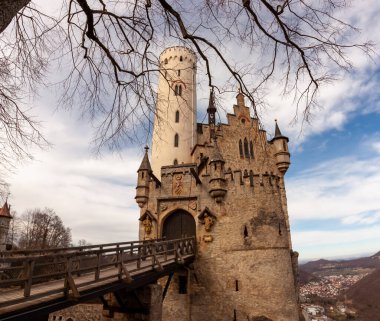
[[[161,270],[170,262],[183,263],[195,250],[195,238],[189,237],[0,252],[0,307],[6,289],[21,288],[24,298],[59,292],[69,295],[70,290],[76,297],[80,288],[96,282],[115,278],[132,282],[139,271]],[[52,282],[55,285],[50,289],[42,289],[41,285]]]

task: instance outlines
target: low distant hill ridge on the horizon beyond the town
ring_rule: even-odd
[[[324,275],[332,273],[352,273],[365,271],[371,272],[380,268],[380,251],[376,254],[351,260],[317,260],[300,265],[300,271],[305,271],[314,275]]]

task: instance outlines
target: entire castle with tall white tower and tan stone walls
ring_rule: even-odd
[[[276,123],[268,141],[242,93],[227,124],[216,124],[211,92],[208,123],[197,123],[196,60],[184,47],[161,54],[151,161],[146,149],[138,169],[140,239],[197,242],[194,266],[169,285],[162,319],[297,321],[288,138]]]

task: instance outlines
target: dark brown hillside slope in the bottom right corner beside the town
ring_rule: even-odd
[[[380,252],[375,255],[380,257]],[[358,312],[361,321],[380,321],[380,268],[348,289],[346,300]]]

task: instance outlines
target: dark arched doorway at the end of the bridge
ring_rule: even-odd
[[[195,220],[188,212],[184,210],[174,211],[164,221],[162,237],[167,240],[190,236],[195,236]]]

